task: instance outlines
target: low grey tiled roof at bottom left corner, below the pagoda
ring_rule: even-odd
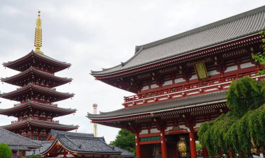
[[[20,136],[13,132],[0,127],[0,142],[6,143],[11,150],[29,150],[29,148],[40,148],[40,144],[24,136]]]

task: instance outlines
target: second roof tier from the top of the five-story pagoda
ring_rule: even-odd
[[[38,70],[37,68],[33,68],[32,66],[29,69],[20,72],[19,74],[16,74],[12,77],[1,78],[1,81],[16,86],[24,86],[24,79],[26,79],[26,81],[31,81],[32,78],[38,79],[38,77],[45,79],[45,81],[49,81],[49,87],[51,88],[67,84],[72,81],[72,79],[66,77],[56,77],[54,74],[44,72],[43,70]]]

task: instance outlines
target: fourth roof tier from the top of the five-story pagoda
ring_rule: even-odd
[[[1,115],[6,116],[14,116],[16,117],[15,113],[20,113],[21,111],[49,111],[49,113],[53,113],[53,117],[59,116],[66,116],[71,113],[75,113],[76,109],[65,109],[57,107],[56,105],[49,105],[49,104],[42,104],[38,102],[23,102],[22,104],[18,104],[9,109],[0,109]]]

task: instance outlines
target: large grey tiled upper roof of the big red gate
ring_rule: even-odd
[[[169,38],[137,46],[135,55],[125,63],[101,71],[91,71],[91,74],[100,77],[123,72],[254,35],[265,29],[264,21],[265,6],[262,6]]]

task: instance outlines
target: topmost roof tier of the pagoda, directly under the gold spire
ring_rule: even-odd
[[[3,63],[3,66],[22,72],[24,70],[27,70],[31,65],[39,64],[46,65],[47,68],[49,68],[48,71],[52,73],[69,68],[71,65],[70,63],[57,61],[54,58],[33,52],[32,50],[29,54],[23,56],[22,58],[19,58],[15,61],[8,61],[8,63]]]

